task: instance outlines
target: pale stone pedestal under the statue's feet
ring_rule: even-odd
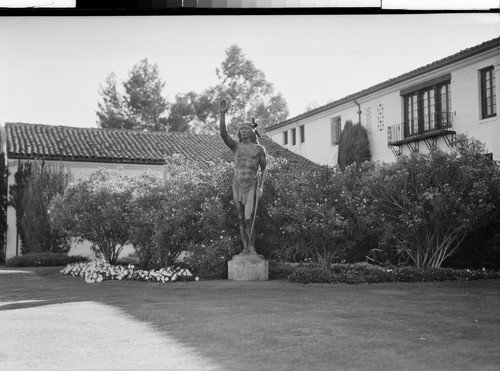
[[[269,277],[269,263],[262,255],[235,255],[227,265],[229,280],[267,281]]]

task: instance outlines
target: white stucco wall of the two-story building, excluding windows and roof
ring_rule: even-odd
[[[482,120],[480,117],[480,78],[479,70],[495,66],[497,115]],[[432,72],[422,74],[383,90],[357,98],[360,104],[361,124],[367,129],[372,161],[394,161],[395,156],[388,147],[387,128],[404,121],[401,90],[426,83],[434,78],[451,74],[451,109],[454,129],[457,134],[464,133],[485,143],[488,152],[495,160],[500,160],[500,53],[498,50],[461,60]],[[331,145],[330,121],[340,116],[342,126],[347,120],[359,122],[358,106],[354,100],[318,114],[305,117],[284,127],[268,130],[273,141],[318,164],[336,165],[338,146]],[[305,143],[300,143],[300,129],[305,127]],[[297,144],[292,145],[291,130],[297,128]],[[283,132],[288,131],[288,144],[283,144]],[[438,138],[437,145],[443,150],[448,145]],[[407,146],[401,147],[403,154],[410,152]],[[419,151],[429,151],[425,142],[419,143]]]

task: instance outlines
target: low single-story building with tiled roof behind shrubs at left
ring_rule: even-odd
[[[160,171],[165,158],[174,154],[191,160],[232,161],[231,150],[218,135],[6,123],[1,139],[9,170],[8,187],[15,183],[19,164],[34,160],[44,160],[47,165],[62,163],[75,178],[85,177],[99,167],[120,167],[124,175],[138,175],[148,169]],[[270,156],[284,157],[293,166],[314,166],[267,137],[260,143]],[[4,258],[21,254],[21,249],[16,210],[9,206]]]

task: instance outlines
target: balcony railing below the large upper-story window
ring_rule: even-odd
[[[426,138],[454,133],[452,112],[436,112],[387,128],[389,146],[414,142]]]

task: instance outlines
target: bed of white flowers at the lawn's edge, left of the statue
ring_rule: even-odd
[[[68,264],[61,273],[72,277],[84,277],[85,282],[94,283],[104,280],[139,280],[151,282],[175,282],[175,281],[198,281],[198,277],[184,268],[161,268],[159,270],[140,270],[134,265],[127,267],[122,265],[111,265],[105,260],[93,260],[88,263]]]

